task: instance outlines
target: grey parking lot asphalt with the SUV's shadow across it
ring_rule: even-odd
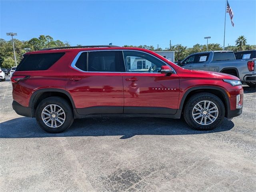
[[[78,119],[49,134],[0,82],[1,192],[256,191],[256,90],[212,131],[167,118]]]

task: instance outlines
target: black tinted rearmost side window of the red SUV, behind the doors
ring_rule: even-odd
[[[17,66],[16,71],[38,71],[47,70],[65,53],[41,53],[27,54]]]

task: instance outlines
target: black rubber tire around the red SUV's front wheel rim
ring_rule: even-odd
[[[196,104],[198,102],[204,101],[204,100],[213,102],[218,108],[218,116],[217,116],[216,120],[208,125],[199,124],[198,122],[196,122],[196,120],[194,120],[194,118],[192,116],[194,106],[196,106]],[[187,124],[194,129],[212,130],[212,129],[216,128],[218,125],[220,125],[222,123],[222,121],[224,120],[225,107],[224,107],[222,100],[220,100],[220,98],[217,97],[216,95],[211,94],[211,93],[198,93],[198,94],[192,95],[186,102],[186,105],[183,110],[183,116],[184,116],[184,119],[187,122]]]

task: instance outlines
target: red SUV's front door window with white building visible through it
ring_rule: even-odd
[[[124,51],[124,62],[127,72],[160,72],[165,65],[159,59],[138,51]]]

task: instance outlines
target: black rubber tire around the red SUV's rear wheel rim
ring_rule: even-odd
[[[42,120],[42,111],[46,106],[50,104],[58,105],[64,110],[65,120],[64,120],[64,123],[59,127],[55,127],[55,128],[49,127]],[[38,104],[36,108],[36,121],[38,122],[39,126],[46,132],[60,133],[60,132],[63,132],[64,130],[67,130],[72,125],[72,123],[74,122],[74,114],[70,104],[65,99],[54,96],[54,97],[46,98]]]

